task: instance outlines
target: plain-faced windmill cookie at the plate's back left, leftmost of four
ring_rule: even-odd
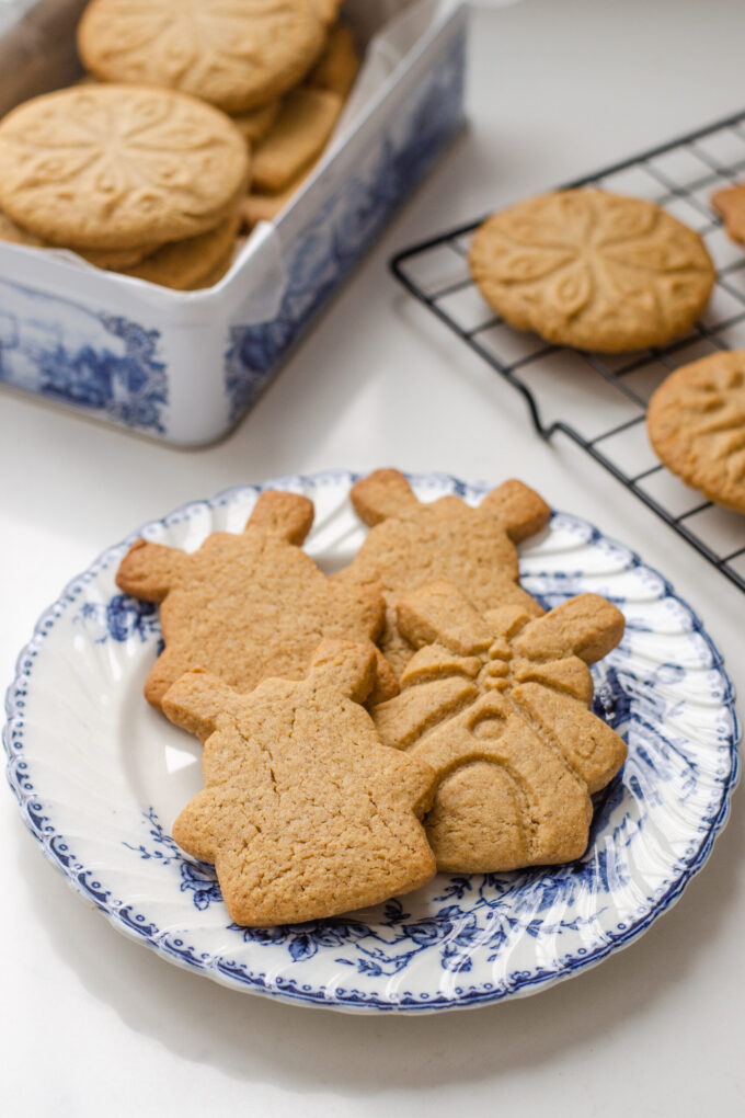
[[[132,546],[116,582],[160,603],[165,650],[145,683],[154,707],[191,667],[250,691],[270,675],[302,679],[323,637],[378,636],[380,589],[326,578],[299,547],[312,523],[307,498],[269,491],[241,534],[213,532],[191,553],[145,540]],[[395,693],[390,672],[388,683],[379,675],[378,694]]]

